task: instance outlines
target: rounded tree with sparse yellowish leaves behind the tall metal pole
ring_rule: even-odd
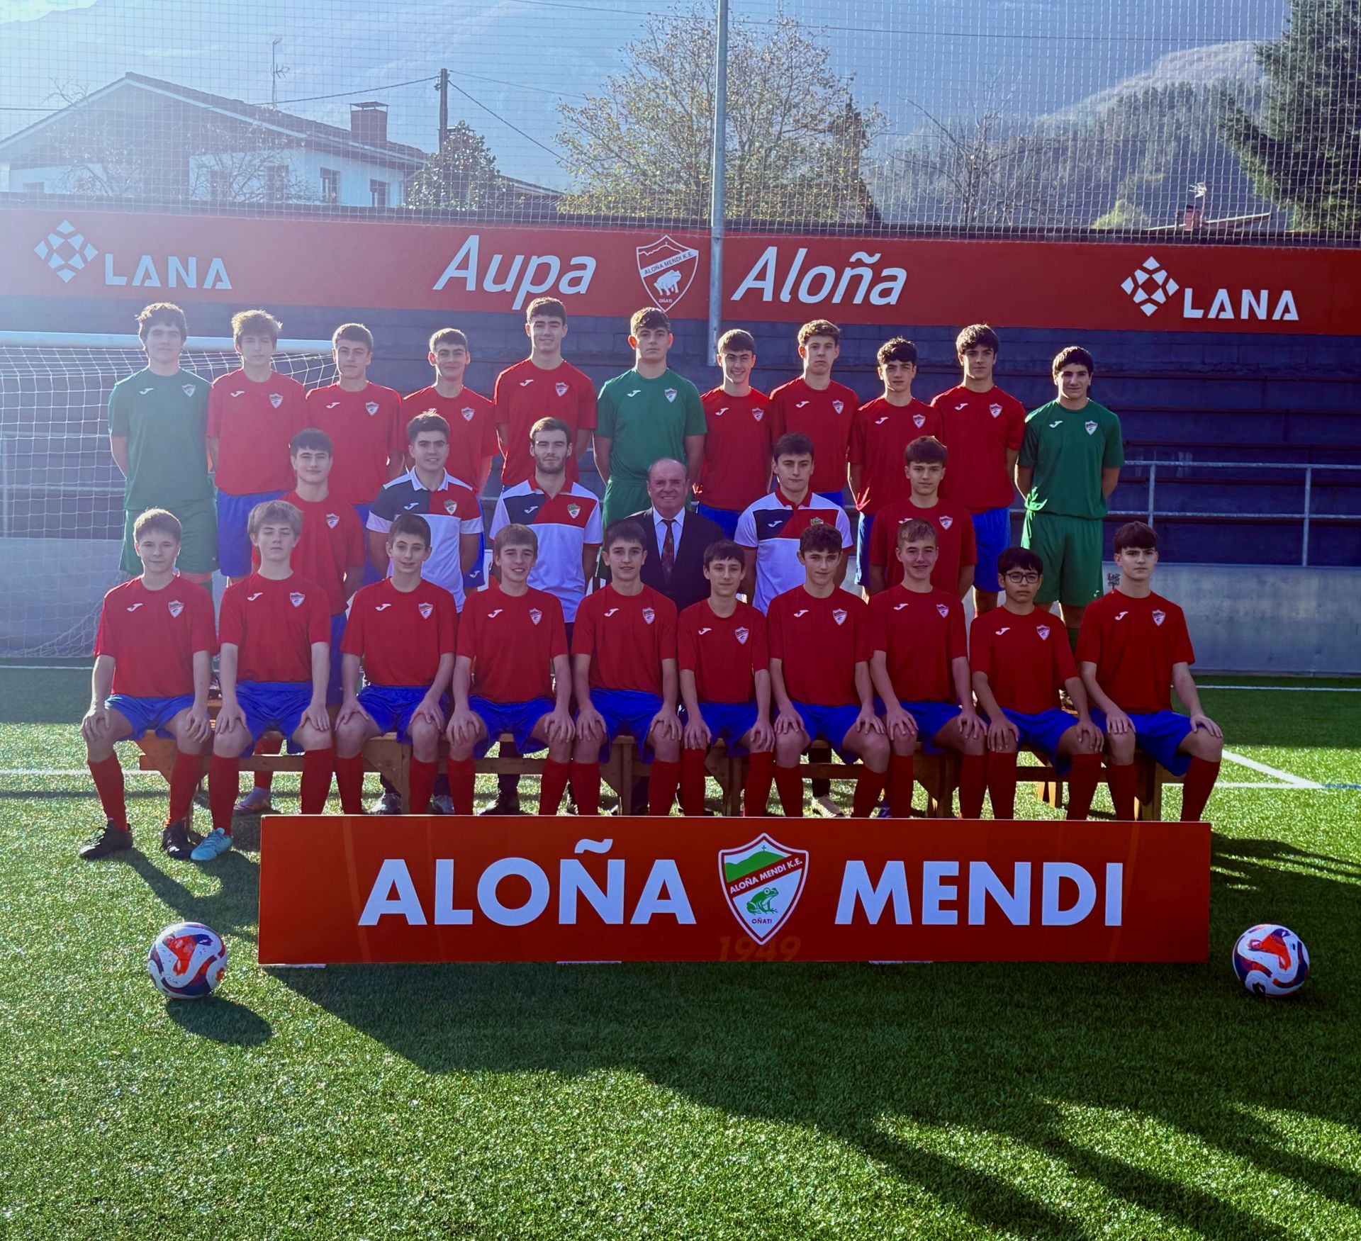
[[[559,105],[573,189],[559,211],[708,219],[713,133],[712,5],[652,15],[630,68],[602,95]],[[830,49],[781,11],[735,20],[728,38],[727,214],[731,219],[876,219],[862,177],[881,127],[830,69]]]

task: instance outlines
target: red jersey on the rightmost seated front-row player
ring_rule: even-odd
[[[1185,612],[1161,595],[1102,595],[1082,616],[1078,661],[1097,665],[1097,684],[1120,710],[1172,710],[1172,665],[1195,663]]]

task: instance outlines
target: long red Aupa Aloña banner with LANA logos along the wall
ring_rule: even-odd
[[[697,233],[0,208],[0,295],[705,318]],[[4,302],[0,301],[0,306]],[[8,321],[22,328],[19,302]],[[724,318],[1353,335],[1361,250],[729,233]]]

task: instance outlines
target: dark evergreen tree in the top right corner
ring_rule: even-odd
[[[1221,131],[1258,193],[1305,230],[1361,226],[1361,8],[1292,0],[1279,39],[1258,46],[1260,120],[1229,101]]]

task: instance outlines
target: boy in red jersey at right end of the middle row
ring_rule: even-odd
[[[902,457],[911,493],[906,499],[881,509],[879,520],[870,532],[870,595],[902,581],[902,563],[897,555],[898,528],[905,521],[925,521],[936,532],[931,585],[964,599],[973,582],[979,544],[969,510],[940,498],[940,480],[950,452],[935,437],[923,435],[908,445]]]

